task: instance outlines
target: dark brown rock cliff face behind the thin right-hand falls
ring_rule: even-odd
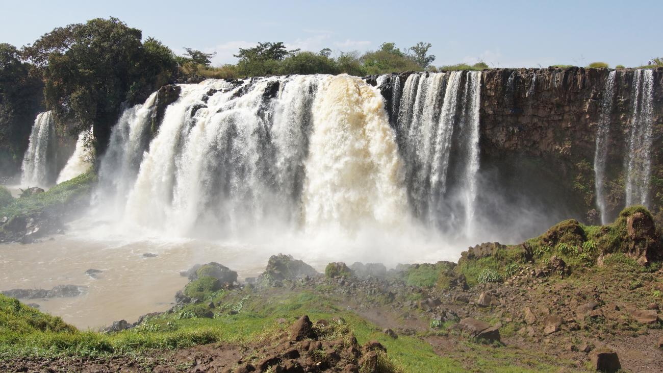
[[[610,219],[625,205],[629,131],[634,121],[636,70],[618,70],[609,111],[605,200]],[[500,206],[530,204],[550,210],[551,218],[599,222],[594,161],[601,101],[611,70],[600,68],[490,69],[481,74],[481,183],[477,197],[483,213]],[[412,73],[398,74],[400,84],[379,86],[392,108],[394,92]],[[653,71],[650,209],[663,216],[663,68]],[[369,77],[377,84],[377,77]],[[389,110],[388,110],[389,111]],[[392,113],[390,113],[392,115]],[[393,120],[392,120],[393,122]],[[501,190],[499,200],[491,190]],[[509,218],[509,214],[505,214]]]

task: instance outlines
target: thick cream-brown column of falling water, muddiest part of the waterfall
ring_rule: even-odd
[[[406,216],[402,165],[383,99],[358,78],[326,78],[306,161],[307,226],[397,227]]]

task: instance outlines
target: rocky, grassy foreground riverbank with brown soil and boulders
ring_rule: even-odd
[[[660,254],[650,214],[632,208],[611,226],[566,221],[520,245],[477,245],[459,263],[339,262],[318,273],[280,254],[245,281],[196,265],[169,311],[103,333],[37,323],[29,337],[0,338],[0,368],[657,372]]]

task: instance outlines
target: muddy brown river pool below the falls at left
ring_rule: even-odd
[[[111,243],[54,236],[34,244],[0,245],[0,290],[51,289],[84,285],[78,297],[21,299],[40,305],[80,329],[97,329],[115,320],[136,321],[145,313],[172,307],[176,291],[187,283],[179,271],[195,263],[218,261],[237,270],[239,279],[258,275],[269,256],[246,255],[246,248],[209,242]],[[144,258],[143,254],[157,254]],[[97,279],[88,269],[103,273]]]

